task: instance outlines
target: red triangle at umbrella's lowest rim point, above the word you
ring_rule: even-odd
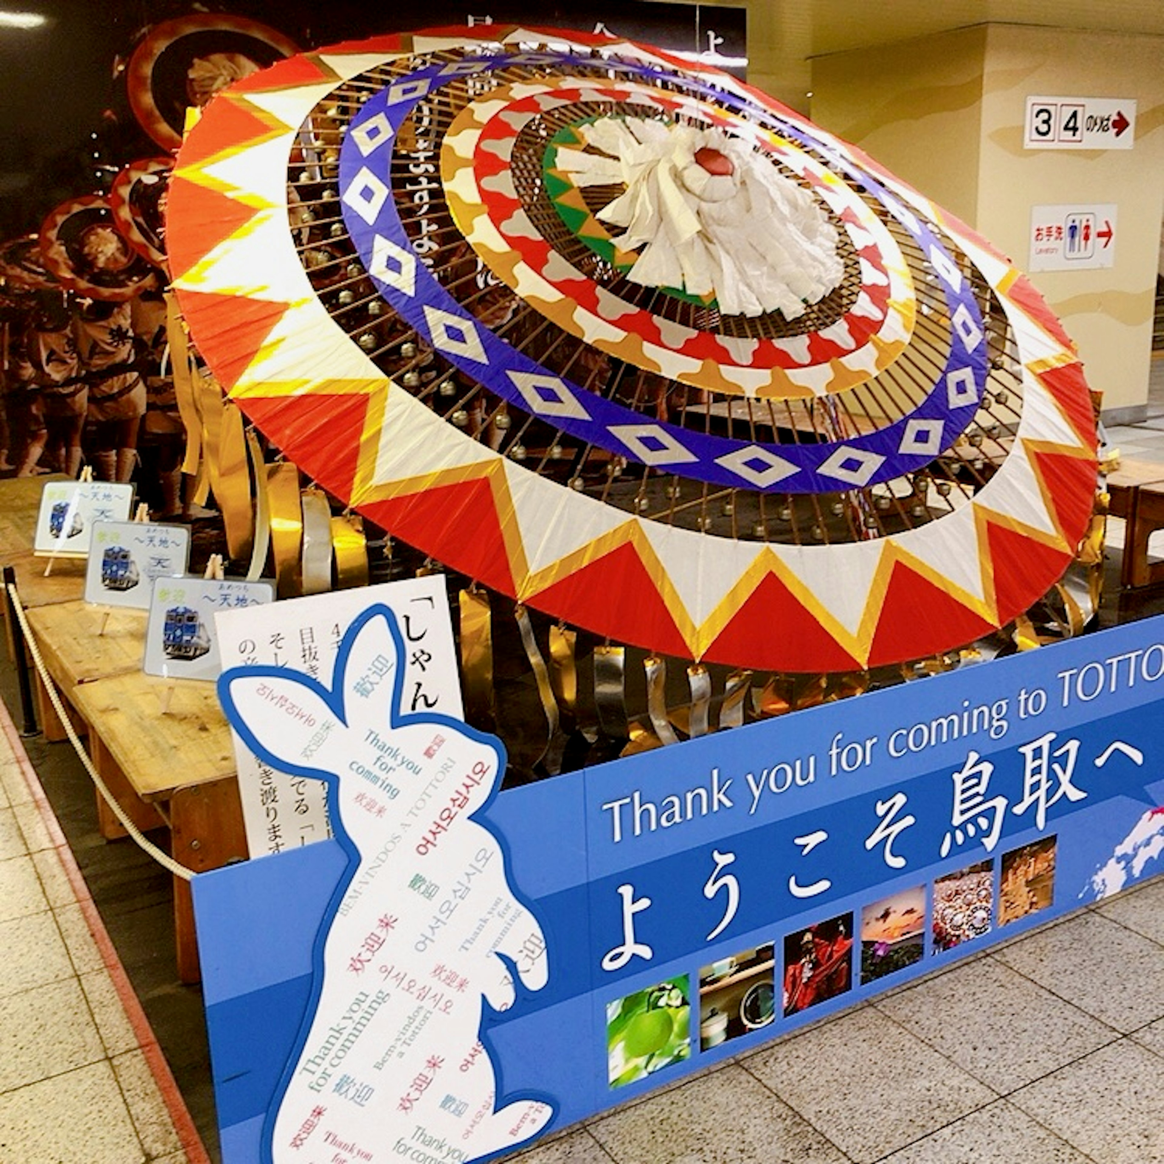
[[[767,627],[757,643],[755,627]],[[859,670],[861,665],[774,574],[767,574],[708,650],[708,658],[754,658],[780,670]]]

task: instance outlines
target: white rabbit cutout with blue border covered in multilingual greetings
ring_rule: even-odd
[[[484,1006],[548,977],[541,927],[495,833],[474,818],[501,744],[445,716],[400,715],[390,610],[348,629],[331,689],[276,667],[225,673],[232,725],[265,762],[327,782],[348,875],[313,953],[312,999],[263,1133],[264,1164],[489,1158],[541,1133],[541,1095],[498,1095]],[[276,858],[277,859],[277,858]]]

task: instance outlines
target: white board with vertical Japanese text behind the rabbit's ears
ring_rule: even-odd
[[[326,686],[343,632],[376,604],[392,610],[404,638],[403,710],[463,718],[453,623],[441,574],[294,598],[261,610],[220,611],[215,623],[222,667],[289,666]],[[291,776],[262,764],[237,736],[234,754],[251,857],[332,836],[321,781]]]

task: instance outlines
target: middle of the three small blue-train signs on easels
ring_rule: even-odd
[[[94,521],[85,601],[149,610],[154,579],[182,577],[189,565],[187,526]]]

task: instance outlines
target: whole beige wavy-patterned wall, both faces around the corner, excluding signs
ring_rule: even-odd
[[[751,29],[750,29],[751,34]],[[1034,205],[1117,206],[1109,270],[1032,276],[1105,411],[1148,398],[1164,210],[1164,40],[1008,24],[814,61],[812,118],[977,227],[1020,268]],[[1024,150],[1028,95],[1131,98],[1131,150]]]

